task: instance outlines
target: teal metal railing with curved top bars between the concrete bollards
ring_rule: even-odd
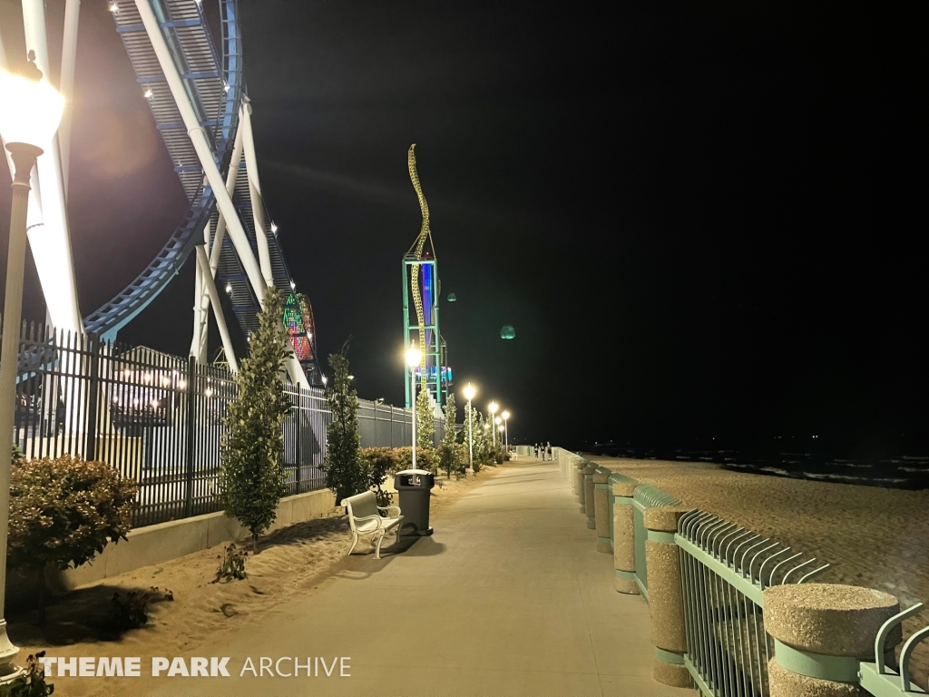
[[[558,449],[559,462],[578,456]],[[589,461],[586,461],[589,463]],[[569,467],[563,472],[570,476]],[[628,480],[614,473],[614,478]],[[614,497],[610,492],[609,510]],[[635,573],[648,600],[643,512],[655,506],[680,506],[674,496],[648,484],[633,495]],[[613,539],[610,527],[610,539]],[[817,656],[779,643],[765,631],[764,590],[772,585],[804,584],[829,568],[816,558],[700,510],[685,514],[674,542],[681,555],[681,585],[687,651],[684,664],[702,697],[770,697],[767,666],[778,663],[796,673],[857,683],[873,697],[912,697],[926,691],[912,682],[912,654],[929,638],[929,626],[904,642],[899,669],[885,661],[885,645],[897,625],[921,612],[922,603],[897,613],[883,624],[874,641],[874,661]]]

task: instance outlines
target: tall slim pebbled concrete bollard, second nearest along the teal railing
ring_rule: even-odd
[[[681,589],[681,557],[674,542],[677,521],[687,508],[659,506],[643,512],[648,540],[648,614],[651,642],[655,645],[652,676],[664,685],[690,687],[690,674],[684,665],[687,635],[684,627],[684,593]],[[773,697],[773,696],[772,696]]]

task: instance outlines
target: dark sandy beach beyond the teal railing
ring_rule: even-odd
[[[819,582],[884,590],[901,609],[929,605],[929,492],[733,472],[712,463],[591,459],[831,564]],[[925,625],[929,611],[905,622],[904,635]],[[926,689],[925,643],[913,667]]]

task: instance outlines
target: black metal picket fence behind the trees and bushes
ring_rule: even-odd
[[[136,527],[221,509],[219,445],[237,389],[228,369],[32,323],[22,326],[19,367],[13,441],[27,458],[79,454],[116,467],[139,485]],[[322,489],[323,392],[285,390],[288,494]],[[359,402],[362,447],[410,444],[409,412]]]

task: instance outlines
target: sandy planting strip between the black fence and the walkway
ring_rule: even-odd
[[[466,480],[436,478],[432,512],[438,513],[478,482],[490,480],[498,470],[485,469]],[[392,487],[387,487],[392,488]],[[396,497],[395,497],[396,501]],[[370,538],[362,538],[354,555],[372,554]],[[318,519],[307,520],[268,535],[261,540],[258,555],[248,556],[248,577],[226,584],[212,583],[224,545],[218,545],[186,557],[156,566],[113,576],[81,586],[47,609],[45,629],[35,625],[31,612],[14,612],[8,628],[10,638],[20,647],[20,664],[36,651],[55,656],[140,656],[146,664],[150,657],[192,655],[207,638],[236,636],[247,632],[250,620],[267,618],[285,600],[316,593],[342,569],[351,536],[343,509],[336,507]],[[388,534],[384,549],[394,544]],[[111,609],[115,592],[147,590],[157,586],[170,590],[174,600],[150,605],[149,623],[111,636],[98,627],[100,619]],[[87,678],[53,677],[55,693],[68,697],[101,697],[100,681]],[[109,681],[130,694],[131,681]]]

